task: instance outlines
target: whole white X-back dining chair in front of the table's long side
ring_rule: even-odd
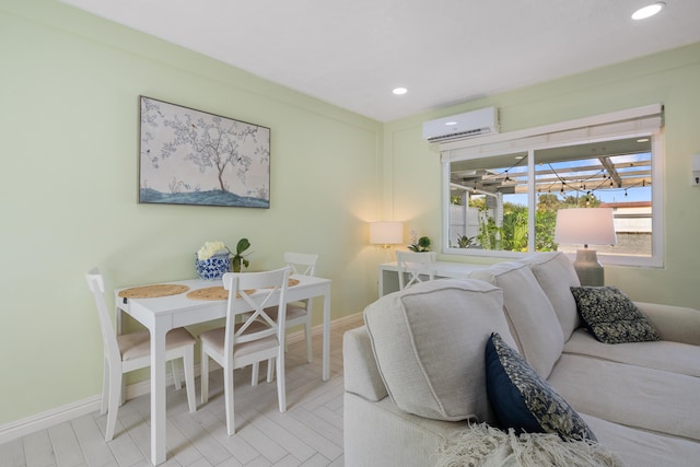
[[[199,335],[201,340],[201,401],[209,399],[209,359],[223,369],[224,402],[229,435],[235,433],[233,371],[265,360],[276,361],[277,396],[280,412],[287,411],[284,385],[284,323],[290,268],[266,272],[226,272],[223,285],[229,291],[226,324]],[[279,299],[278,299],[279,297]],[[278,300],[277,300],[278,299]],[[279,303],[279,319],[266,308]],[[253,311],[253,312],[252,312]],[[250,313],[252,312],[252,313]],[[241,323],[236,323],[236,317]],[[272,365],[268,365],[268,383]]]

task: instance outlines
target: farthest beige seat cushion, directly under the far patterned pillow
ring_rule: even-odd
[[[690,343],[657,340],[610,345],[596,340],[587,329],[580,328],[564,343],[564,353],[700,377],[700,346]]]

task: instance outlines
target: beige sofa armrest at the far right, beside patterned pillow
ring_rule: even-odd
[[[700,346],[700,311],[684,306],[634,302],[663,340]]]

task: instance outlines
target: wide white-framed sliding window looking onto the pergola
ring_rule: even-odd
[[[610,207],[607,264],[661,266],[662,107],[443,144],[445,253],[575,253],[558,245],[557,211]],[[654,209],[656,208],[656,209]]]

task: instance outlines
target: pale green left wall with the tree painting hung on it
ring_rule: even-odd
[[[318,253],[334,318],[376,297],[377,121],[56,1],[1,0],[0,57],[0,425],[100,393],[93,266],[188,278],[205,241],[247,236],[253,269]],[[139,95],[271,128],[270,209],[139,205]]]

